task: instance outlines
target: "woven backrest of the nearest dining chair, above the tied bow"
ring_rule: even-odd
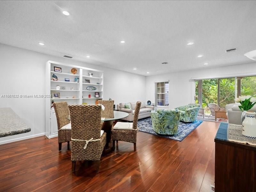
[[[70,111],[72,139],[100,139],[100,105],[69,105],[68,108]]]

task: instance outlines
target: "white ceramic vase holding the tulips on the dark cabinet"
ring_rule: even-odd
[[[242,123],[242,134],[245,137],[256,139],[256,118],[255,112],[253,111],[246,111],[246,117]]]

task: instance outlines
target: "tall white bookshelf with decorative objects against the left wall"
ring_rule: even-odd
[[[61,68],[61,72],[54,71],[54,67]],[[76,74],[71,73],[72,68],[77,69]],[[90,76],[89,73],[93,73],[93,76]],[[58,77],[57,81],[52,79],[53,74]],[[65,78],[66,80],[68,78],[69,81],[65,81]],[[79,78],[79,82],[76,82],[75,78]],[[60,89],[57,89],[57,85],[60,86]],[[103,98],[103,71],[47,61],[45,94],[51,96],[45,98],[45,132],[47,138],[53,138],[58,136],[58,129],[54,109],[51,109],[52,101],[67,101],[68,105],[95,105],[97,100]],[[53,94],[57,97],[53,98]],[[99,97],[95,97],[96,94]]]

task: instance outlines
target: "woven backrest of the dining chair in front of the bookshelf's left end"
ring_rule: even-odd
[[[61,127],[70,123],[69,120],[67,119],[67,116],[69,115],[68,103],[67,102],[53,103],[53,107],[56,114],[58,130],[60,130]]]

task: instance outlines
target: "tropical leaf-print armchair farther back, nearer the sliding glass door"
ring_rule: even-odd
[[[195,122],[198,115],[200,105],[197,103],[189,103],[185,106],[180,106],[175,109],[180,110],[180,121]]]

